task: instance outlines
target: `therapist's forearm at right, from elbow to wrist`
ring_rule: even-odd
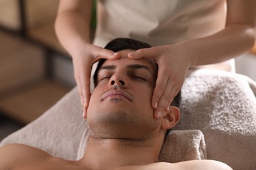
[[[179,44],[189,54],[190,65],[207,65],[234,58],[253,48],[255,29],[247,25],[230,25],[208,37]]]

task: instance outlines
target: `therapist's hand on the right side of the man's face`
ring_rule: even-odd
[[[158,63],[158,78],[152,96],[154,117],[159,118],[173,101],[186,78],[190,59],[179,44],[144,48],[130,53],[129,58],[153,58]]]

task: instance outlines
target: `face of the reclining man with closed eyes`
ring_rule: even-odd
[[[87,122],[91,135],[106,138],[146,137],[160,127],[151,107],[157,68],[153,59],[106,60],[98,71],[91,94]]]

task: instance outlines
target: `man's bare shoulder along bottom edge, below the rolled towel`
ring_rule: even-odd
[[[148,165],[141,166],[127,166],[127,167],[119,167],[116,170],[154,170],[154,169],[162,169],[162,170],[232,170],[231,167],[222,163],[221,161],[213,161],[213,160],[194,160],[194,161],[182,161],[179,163],[166,163],[166,162],[158,162],[151,163]]]

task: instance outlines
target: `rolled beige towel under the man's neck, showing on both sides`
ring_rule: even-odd
[[[78,148],[77,160],[83,157],[89,131],[84,131]],[[175,163],[207,159],[203,133],[199,130],[173,130],[167,135],[161,148],[159,161]]]

